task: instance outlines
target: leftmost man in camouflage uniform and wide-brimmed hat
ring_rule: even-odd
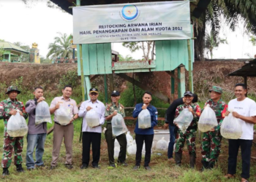
[[[14,149],[15,153],[15,165],[17,171],[23,172],[22,168],[22,157],[21,153],[23,150],[23,137],[11,137],[7,133],[7,122],[10,119],[10,116],[15,115],[19,110],[20,115],[25,119],[28,117],[25,111],[23,103],[17,100],[17,95],[20,93],[20,90],[16,86],[8,87],[7,92],[5,92],[9,98],[3,100],[0,103],[0,119],[4,119],[4,154],[1,160],[1,167],[3,167],[2,175],[9,175],[8,167],[12,163],[12,150]]]

